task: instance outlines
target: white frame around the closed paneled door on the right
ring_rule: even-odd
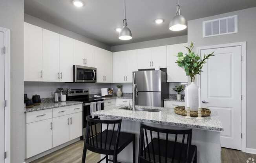
[[[216,49],[216,48],[223,48],[223,47],[234,47],[234,46],[241,46],[241,147],[242,152],[246,152],[246,42],[235,42],[235,43],[226,43],[226,44],[219,44],[219,45],[209,45],[209,46],[202,46],[197,47],[196,52],[206,49]],[[200,75],[197,75],[196,79],[198,85],[200,86],[201,78]]]

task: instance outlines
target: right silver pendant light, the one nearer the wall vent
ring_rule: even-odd
[[[183,29],[187,28],[187,21],[184,16],[181,15],[181,9],[179,8],[179,0],[176,6],[177,12],[176,16],[172,18],[169,24],[169,29],[171,31],[182,31]]]

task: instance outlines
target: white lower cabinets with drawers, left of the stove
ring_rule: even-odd
[[[82,136],[82,104],[26,114],[26,158]]]

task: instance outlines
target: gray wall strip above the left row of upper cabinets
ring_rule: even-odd
[[[80,34],[77,34],[77,33],[74,33],[72,31],[69,31],[67,29],[61,28],[61,27],[59,27],[57,25],[48,23],[48,22],[46,22],[44,20],[38,19],[38,18],[36,18],[34,16],[31,16],[29,14],[24,14],[24,21],[29,23],[29,24],[37,25],[38,27],[42,27],[44,29],[48,29],[49,31],[53,31],[53,32],[62,34],[64,36],[68,36],[70,38],[74,38],[76,40],[88,43],[90,45],[94,45],[96,47],[100,47],[102,49],[106,49],[108,51],[111,50],[109,45],[106,45],[104,43],[92,40],[92,39],[87,38],[85,36],[82,36]]]

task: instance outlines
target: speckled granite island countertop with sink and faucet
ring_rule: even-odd
[[[217,112],[212,111],[211,115],[204,117],[204,120],[197,120],[196,117],[186,119],[185,116],[178,115],[173,109],[163,107],[144,107],[136,106],[136,108],[159,109],[160,112],[146,112],[119,109],[123,106],[113,107],[113,109],[101,110],[93,112],[94,116],[103,116],[109,118],[118,118],[131,121],[144,121],[150,123],[160,123],[165,125],[175,125],[181,127],[189,127],[196,129],[223,131],[223,125],[219,119]]]

